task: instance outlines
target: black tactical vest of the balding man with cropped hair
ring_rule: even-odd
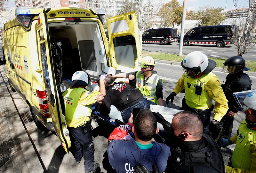
[[[197,152],[180,153],[180,164],[174,165],[172,170],[177,173],[223,173],[225,163],[217,143],[206,134],[202,135],[203,140],[208,142],[204,148]],[[172,155],[177,155],[174,153]]]

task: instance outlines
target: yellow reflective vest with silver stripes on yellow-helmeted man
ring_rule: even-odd
[[[144,98],[148,98],[151,102],[158,104],[156,97],[156,85],[160,77],[155,73],[151,75],[147,82],[144,84],[144,75],[141,71],[136,73],[136,88],[140,89],[140,92],[143,94]],[[164,82],[163,79],[161,79]]]

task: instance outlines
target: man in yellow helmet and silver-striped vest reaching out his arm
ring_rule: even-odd
[[[113,75],[114,78],[128,78],[130,80],[136,79],[136,89],[140,89],[144,98],[147,98],[151,102],[154,102],[160,106],[163,106],[163,79],[157,75],[154,71],[156,66],[155,60],[151,56],[145,56],[141,59],[140,63],[141,71],[134,71],[130,73],[119,73]]]

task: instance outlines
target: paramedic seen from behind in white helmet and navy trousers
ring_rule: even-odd
[[[89,92],[85,89],[90,82],[89,75],[84,71],[76,71],[73,74],[71,86],[62,95],[65,104],[65,118],[69,132],[74,138],[75,160],[80,163],[84,156],[85,173],[93,173],[100,167],[99,163],[94,163],[94,145],[92,141],[92,129],[90,116],[92,104],[98,100],[97,96],[105,96],[106,90],[104,79],[106,75],[100,77],[100,92]]]

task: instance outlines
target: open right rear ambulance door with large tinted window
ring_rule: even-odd
[[[141,41],[134,11],[108,19],[110,60],[116,70],[139,71]]]

